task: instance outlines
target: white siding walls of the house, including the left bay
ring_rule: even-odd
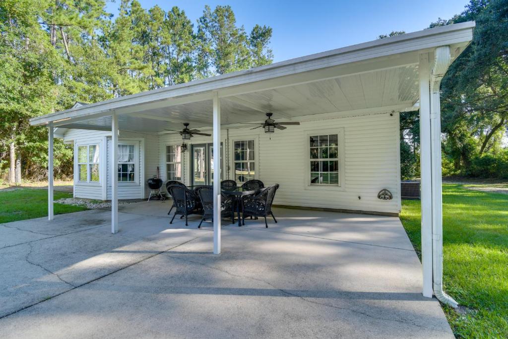
[[[235,177],[233,145],[235,141],[255,142],[252,178],[265,185],[278,183],[274,203],[283,206],[314,207],[398,214],[400,211],[399,113],[330,118],[302,121],[284,131],[265,134],[263,129],[236,128],[221,131],[223,144],[223,179]],[[310,182],[309,137],[337,134],[338,184]],[[229,138],[228,138],[229,136]],[[74,142],[74,196],[98,200],[111,199],[111,133],[69,129],[63,133],[65,142]],[[119,147],[134,147],[134,181],[118,181],[118,199],[148,198],[146,180],[157,174],[166,182],[166,147],[181,145],[179,134],[141,134],[120,132]],[[196,144],[211,144],[211,137],[195,136],[181,153],[181,181],[192,182],[191,156]],[[78,147],[98,144],[100,149],[99,182],[79,180]],[[104,163],[104,145],[107,161]],[[106,166],[104,166],[106,164]],[[121,166],[121,165],[120,165]],[[124,165],[125,166],[125,165]],[[104,173],[107,172],[107,175]],[[121,175],[121,174],[120,174]],[[104,178],[107,180],[104,180]],[[380,200],[377,193],[388,189],[394,199]]]

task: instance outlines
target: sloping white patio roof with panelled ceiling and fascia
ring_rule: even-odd
[[[189,122],[212,125],[212,97],[221,125],[274,118],[295,121],[415,109],[420,98],[419,56],[450,46],[454,60],[472,39],[474,22],[421,30],[334,49],[250,70],[233,72],[135,95],[74,106],[30,119],[35,126],[164,132]],[[244,125],[242,127],[245,127]]]

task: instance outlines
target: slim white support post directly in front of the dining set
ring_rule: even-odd
[[[213,254],[220,254],[220,100],[213,95]]]

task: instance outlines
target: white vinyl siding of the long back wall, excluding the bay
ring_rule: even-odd
[[[230,129],[229,144],[227,131],[221,131],[221,141],[226,145],[224,179],[235,179],[233,142],[255,140],[256,179],[265,186],[278,183],[279,190],[274,204],[332,209],[363,210],[398,213],[400,211],[399,174],[399,114],[372,114],[304,121],[299,126],[288,126],[283,131],[268,135],[248,129]],[[309,139],[310,135],[339,134],[340,186],[311,186],[309,184]],[[340,133],[343,136],[340,136]],[[162,135],[161,142],[176,144],[179,135]],[[271,137],[271,138],[270,138]],[[343,140],[340,145],[340,140]],[[192,143],[211,143],[211,137],[196,136]],[[190,149],[190,143],[188,145]],[[160,149],[165,157],[166,147]],[[183,157],[184,182],[188,184],[188,151]],[[165,158],[160,166],[165,166]],[[229,163],[229,164],[228,164]],[[388,189],[393,200],[377,199],[377,193]],[[359,198],[360,197],[360,198]]]

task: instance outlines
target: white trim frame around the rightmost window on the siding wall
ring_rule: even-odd
[[[305,176],[304,180],[304,189],[305,190],[326,190],[326,191],[345,191],[345,145],[344,145],[344,128],[339,127],[336,129],[330,130],[313,130],[313,131],[305,131],[305,143],[304,143],[304,152],[305,152]],[[338,162],[339,162],[339,183],[337,186],[332,184],[321,184],[315,185],[310,183],[310,147],[309,147],[309,138],[313,135],[330,135],[337,134],[337,142],[338,142]]]

